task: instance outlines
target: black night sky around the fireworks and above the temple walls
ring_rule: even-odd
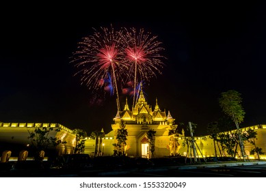
[[[42,8],[42,9],[41,9]],[[101,8],[3,8],[0,35],[0,121],[60,123],[67,128],[111,130],[114,98],[90,106],[70,57],[81,38],[100,27],[135,27],[162,42],[162,75],[144,87],[176,123],[196,123],[196,135],[222,115],[220,93],[243,98],[241,127],[266,123],[265,3],[156,5]],[[125,97],[120,99],[123,107]]]

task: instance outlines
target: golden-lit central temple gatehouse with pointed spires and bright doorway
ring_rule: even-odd
[[[176,128],[174,125],[175,119],[170,114],[170,111],[166,113],[161,111],[159,107],[158,100],[156,99],[155,108],[148,104],[144,98],[144,93],[142,87],[139,91],[139,96],[137,98],[135,106],[132,109],[129,108],[129,104],[124,105],[122,111],[117,111],[114,117],[114,123],[111,124],[111,132],[105,134],[105,138],[99,142],[98,153],[100,155],[113,155],[114,144],[117,143],[116,135],[118,129],[121,125],[127,130],[127,145],[124,147],[124,153],[127,156],[150,158],[150,144],[148,141],[148,131],[155,131],[155,151],[153,157],[163,157],[169,156],[173,153],[178,153],[180,145],[174,145],[171,141],[169,130]],[[178,134],[179,137],[184,136],[184,134]],[[85,142],[85,153],[94,152],[95,141],[88,139]],[[93,145],[90,147],[90,145]]]

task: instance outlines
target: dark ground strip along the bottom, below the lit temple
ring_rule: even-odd
[[[266,177],[265,161],[114,158],[0,163],[1,177]]]

